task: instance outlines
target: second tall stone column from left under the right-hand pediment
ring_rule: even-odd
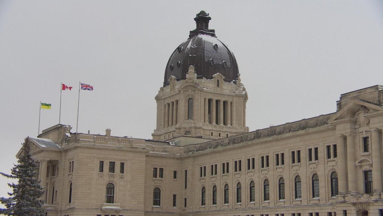
[[[347,177],[349,191],[356,192],[355,143],[354,134],[347,134]]]

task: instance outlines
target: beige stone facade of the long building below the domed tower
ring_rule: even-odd
[[[349,92],[335,113],[221,139],[176,132],[166,141],[144,140],[55,125],[30,138],[44,206],[51,216],[378,216],[382,95],[383,86]],[[202,111],[193,115],[201,122]]]

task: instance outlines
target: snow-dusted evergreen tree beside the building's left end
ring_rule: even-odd
[[[15,215],[15,216],[43,216],[44,209],[42,208],[44,201],[41,196],[44,194],[43,188],[37,178],[39,165],[32,158],[31,141],[28,137],[25,138],[21,147],[22,152],[18,158],[17,165],[11,169],[11,175],[1,173],[1,175],[17,179],[18,182],[8,183],[13,190],[9,198],[0,198],[0,202],[7,208],[0,209],[0,214]]]

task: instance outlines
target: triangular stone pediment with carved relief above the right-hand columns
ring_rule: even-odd
[[[365,115],[374,112],[383,112],[383,106],[362,99],[354,99],[340,109],[331,119],[330,123],[340,120],[354,119],[358,124],[365,124]]]

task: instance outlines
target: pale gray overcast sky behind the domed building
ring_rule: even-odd
[[[200,10],[236,56],[250,131],[336,111],[342,93],[383,84],[383,2],[0,0],[0,171],[59,121],[75,132],[151,138],[154,96]],[[0,197],[9,180],[0,177]]]

